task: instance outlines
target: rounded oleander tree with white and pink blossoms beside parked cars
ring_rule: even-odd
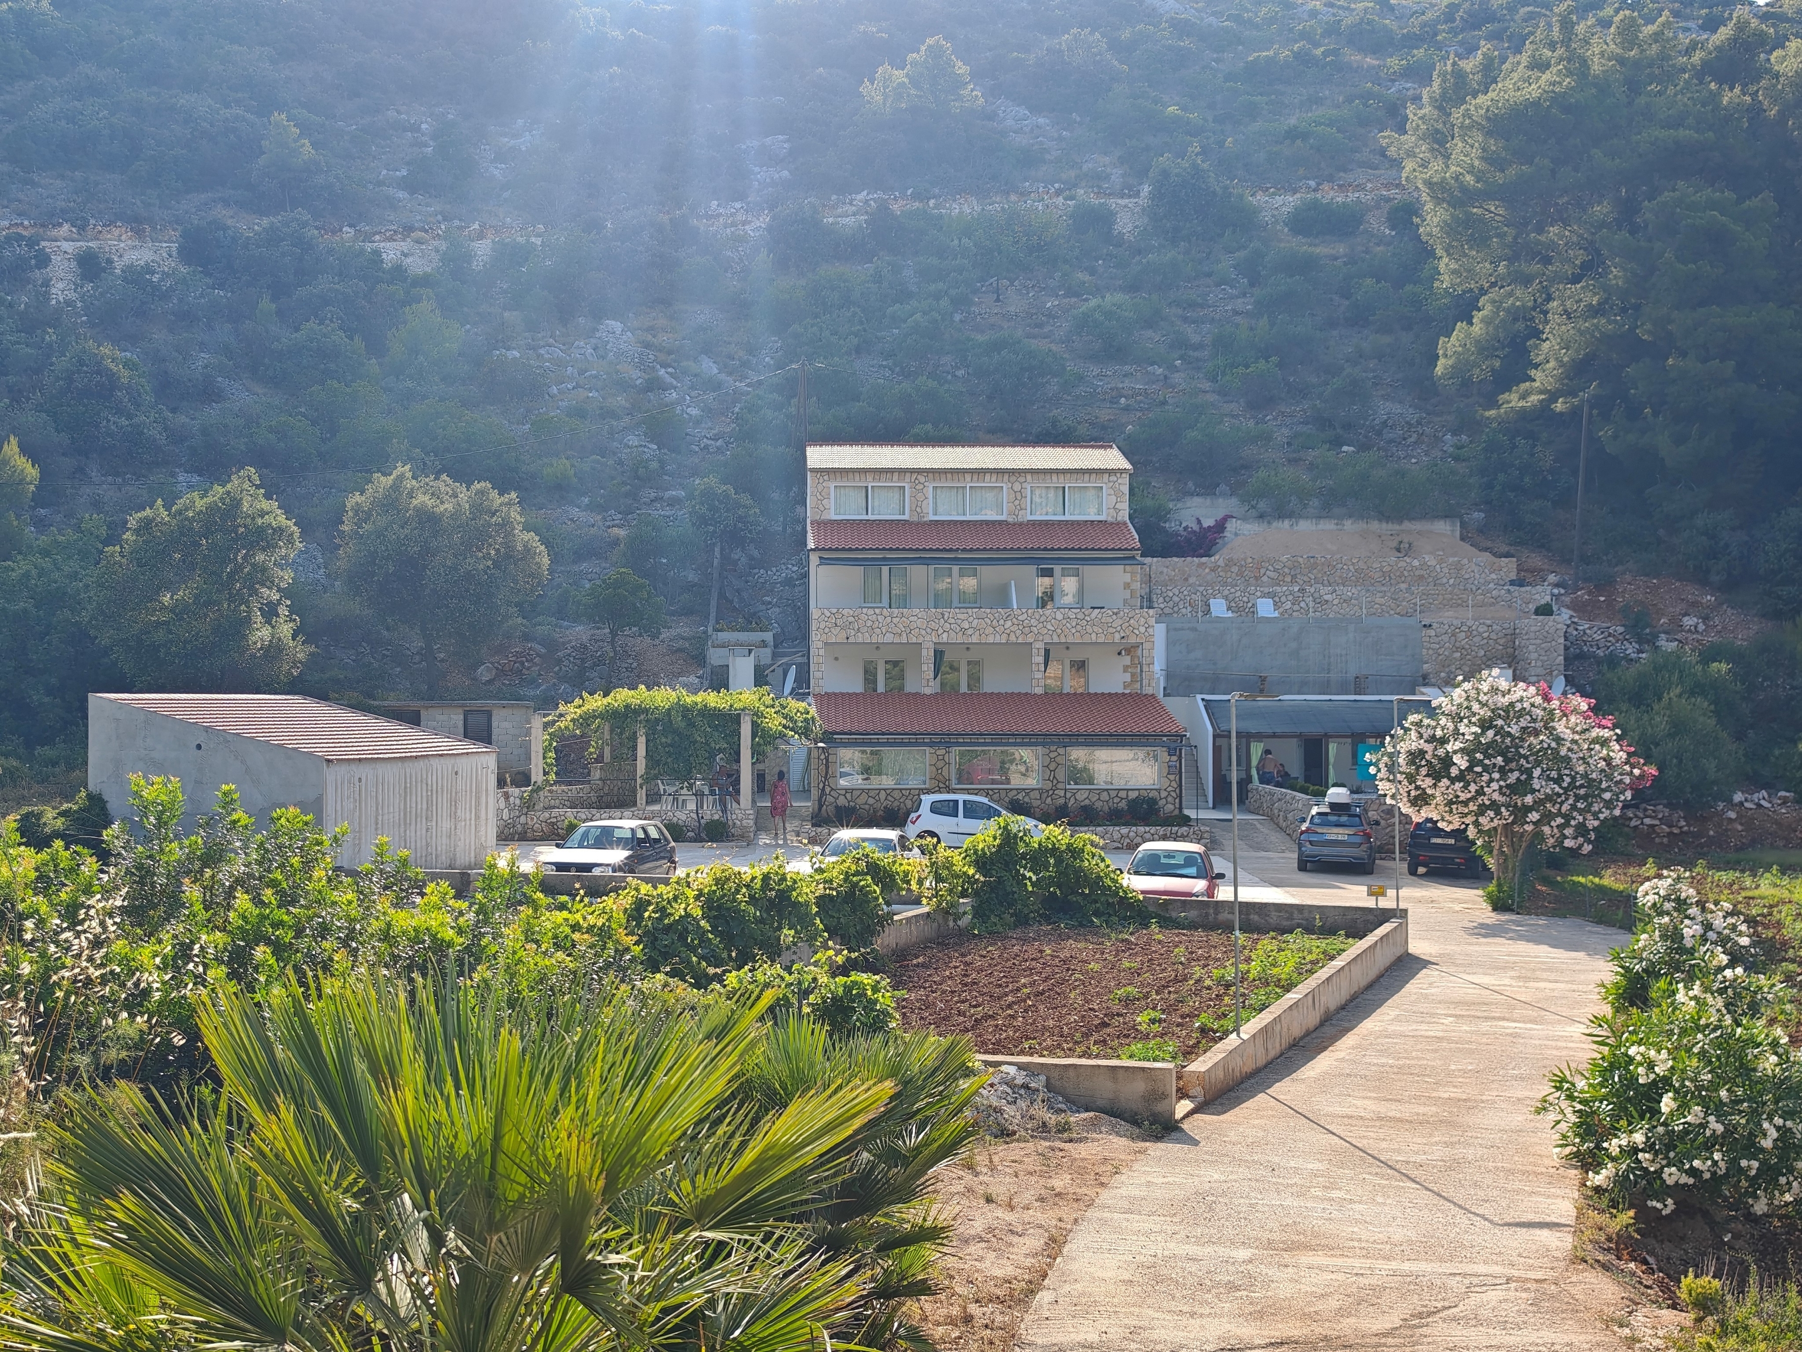
[[[1535,840],[1588,851],[1652,770],[1593,699],[1478,676],[1389,734],[1379,788],[1420,818],[1465,827],[1514,880]]]

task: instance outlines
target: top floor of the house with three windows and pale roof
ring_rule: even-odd
[[[807,445],[813,521],[1126,521],[1130,483],[1110,442]]]

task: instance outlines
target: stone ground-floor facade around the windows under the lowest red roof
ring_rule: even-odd
[[[964,746],[980,745],[980,737],[966,737]],[[951,784],[951,748],[932,746],[926,752],[924,788],[840,788],[838,750],[822,748],[813,755],[813,824],[815,826],[878,826],[887,820],[899,826],[919,806],[926,793],[971,793],[993,799],[1004,808],[1020,802],[1029,817],[1042,822],[1074,818],[1083,806],[1092,806],[1101,817],[1124,813],[1132,799],[1155,797],[1157,815],[1169,817],[1182,809],[1182,786],[1169,772],[1164,757],[1164,775],[1157,788],[1088,788],[1065,782],[1065,750],[1040,748],[1040,782],[1034,788],[955,788]]]

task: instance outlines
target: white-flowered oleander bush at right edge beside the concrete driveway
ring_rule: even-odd
[[[1802,1199],[1802,1056],[1779,1026],[1788,993],[1759,970],[1744,918],[1685,874],[1640,889],[1642,921],[1613,955],[1595,1058],[1541,1103],[1559,1152],[1613,1197],[1669,1215],[1679,1201],[1789,1210]]]

